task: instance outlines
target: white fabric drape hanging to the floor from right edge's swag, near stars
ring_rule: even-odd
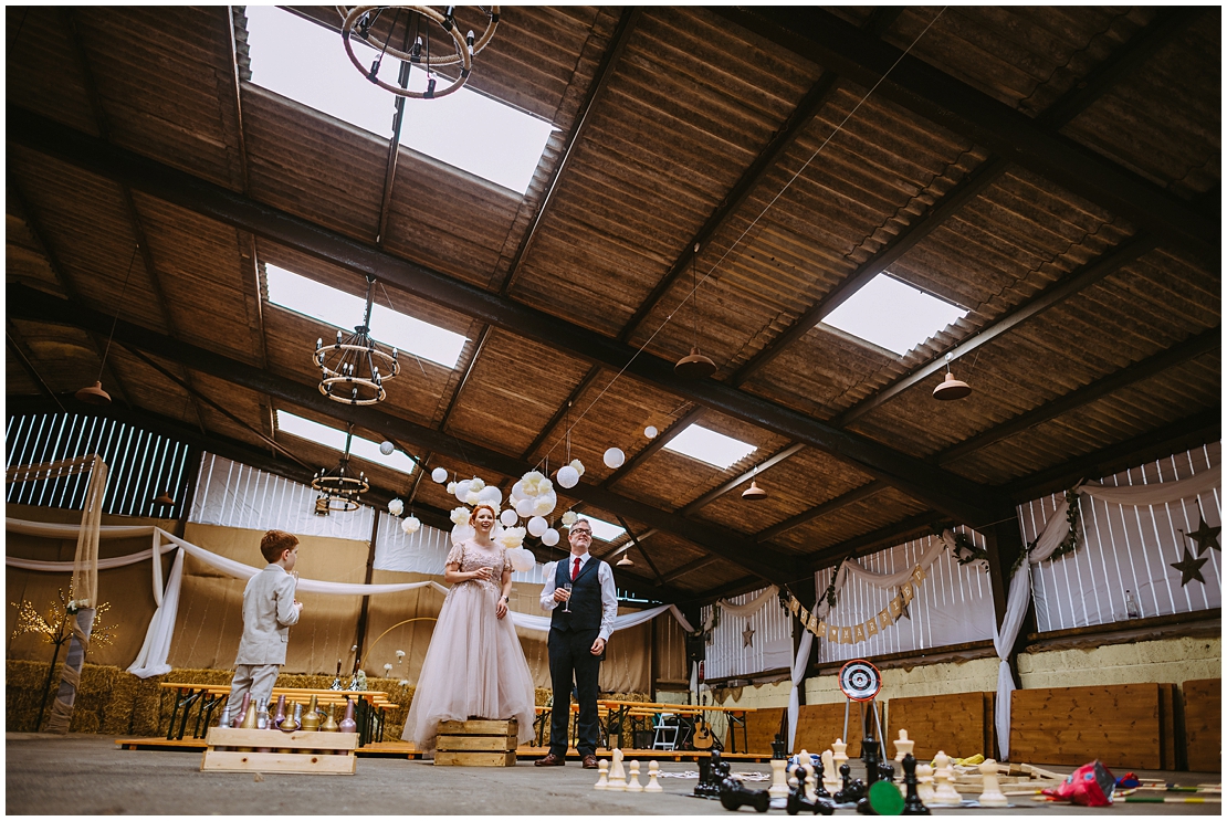
[[[1075,488],[1075,492],[1109,502],[1113,504],[1145,507],[1148,504],[1167,504],[1190,496],[1198,496],[1221,484],[1221,471],[1216,466],[1194,474],[1187,479],[1174,482],[1153,482],[1150,485],[1131,485],[1113,487],[1101,482],[1083,482]],[[1048,517],[1044,531],[1036,540],[1027,556],[1028,565],[1038,565],[1050,557],[1069,535],[1069,502],[1061,499]],[[1006,596],[1005,619],[1001,628],[993,633],[993,647],[996,650],[1000,664],[998,665],[998,695],[994,723],[996,725],[998,744],[1001,747],[1001,758],[1010,758],[1010,693],[1015,691],[1014,676],[1010,674],[1010,650],[1022,630],[1022,620],[1027,615],[1027,604],[1031,599],[1031,568],[1020,567],[1018,572],[1010,579],[1010,593]]]

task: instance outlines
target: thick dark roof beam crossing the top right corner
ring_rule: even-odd
[[[1200,253],[1215,258],[1220,253],[1218,221],[1204,211],[829,12],[811,6],[712,6],[709,11],[866,88],[876,86],[876,96],[1135,225]]]

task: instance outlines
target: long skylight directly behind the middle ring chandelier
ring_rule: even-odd
[[[265,265],[265,270],[269,279],[269,302],[344,330],[352,330],[362,322],[367,308],[364,298],[276,265]],[[375,293],[382,296],[378,290]],[[379,304],[378,297],[371,309],[371,335],[384,345],[407,351],[445,368],[456,367],[464,345],[469,341],[461,334],[391,310]],[[329,341],[331,340],[324,339],[325,344]],[[404,361],[401,367],[405,367]]]

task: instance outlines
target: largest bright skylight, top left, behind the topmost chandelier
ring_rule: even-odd
[[[395,97],[355,70],[336,32],[275,6],[248,6],[247,18],[252,82],[391,139]],[[378,56],[361,40],[355,54],[368,65]],[[380,80],[396,85],[399,72],[400,60],[380,63]],[[425,70],[410,72],[409,87],[426,88]],[[552,131],[545,120],[461,88],[436,99],[406,99],[400,142],[524,194]]]

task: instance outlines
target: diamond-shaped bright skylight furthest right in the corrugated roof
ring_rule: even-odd
[[[953,303],[879,274],[827,314],[822,324],[903,356],[966,315]]]

